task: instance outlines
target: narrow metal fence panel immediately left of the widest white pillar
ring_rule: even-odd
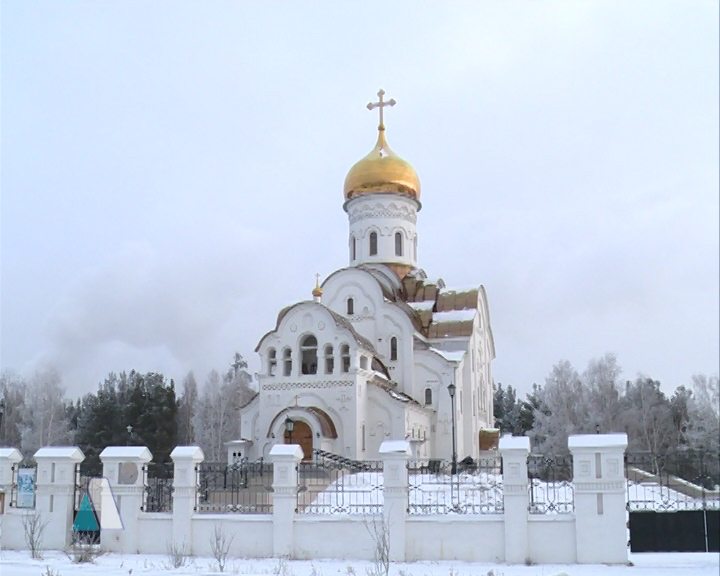
[[[530,514],[570,514],[575,511],[572,456],[528,456]]]

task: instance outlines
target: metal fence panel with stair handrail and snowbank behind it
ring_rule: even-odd
[[[383,466],[320,451],[297,466],[296,511],[301,514],[380,514]]]

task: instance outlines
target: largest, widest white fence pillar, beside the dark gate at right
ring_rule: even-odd
[[[579,564],[627,564],[627,434],[570,436]]]

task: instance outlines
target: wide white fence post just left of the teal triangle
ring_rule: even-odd
[[[35,452],[35,511],[47,523],[40,546],[64,550],[71,541],[75,513],[75,465],[85,460],[80,448],[49,447]]]

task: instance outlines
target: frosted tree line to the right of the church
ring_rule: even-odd
[[[544,385],[524,399],[512,386],[494,390],[495,427],[530,437],[533,451],[567,453],[571,434],[625,432],[628,451],[662,456],[678,450],[720,451],[718,377],[696,374],[672,395],[660,382],[637,376],[624,383],[613,354],[591,360],[579,373],[568,361],[553,366]]]

